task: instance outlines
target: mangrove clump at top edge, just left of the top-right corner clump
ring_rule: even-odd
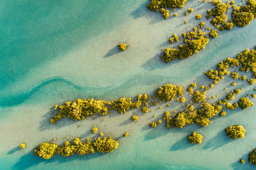
[[[224,4],[217,0],[213,0],[210,3],[215,5],[215,7],[207,10],[207,20],[210,20],[210,18],[213,17],[210,21],[212,25],[216,26],[217,24],[224,24],[228,19],[228,16],[225,13],[228,12],[230,4],[228,2]]]

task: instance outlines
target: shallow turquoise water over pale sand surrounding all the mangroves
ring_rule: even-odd
[[[57,103],[80,98],[135,97],[138,93],[152,94],[165,83],[186,86],[191,82],[209,80],[203,72],[214,68],[226,57],[235,57],[256,42],[256,22],[245,28],[220,32],[210,40],[205,50],[185,60],[169,64],[161,62],[161,48],[174,47],[168,42],[173,33],[181,35],[205,16],[208,3],[191,0],[184,9],[176,10],[179,17],[164,20],[159,13],[146,8],[146,0],[56,0],[6,1],[0,3],[0,169],[169,169],[169,170],[250,170],[248,153],[255,149],[255,106],[228,111],[206,128],[191,125],[168,130],[164,123],[156,129],[148,128],[153,115],[160,117],[165,110],[153,107],[154,112],[129,121],[137,110],[125,114],[114,113],[96,120],[63,119],[49,124],[51,108]],[[184,16],[188,7],[193,15]],[[201,7],[198,9],[198,7]],[[174,12],[171,12],[171,15]],[[184,20],[188,24],[184,25]],[[205,21],[206,26],[210,26]],[[192,26],[190,26],[190,24]],[[125,52],[116,49],[126,42]],[[249,73],[246,75],[250,75]],[[230,80],[230,79],[228,79]],[[231,80],[230,80],[231,81]],[[225,84],[226,83],[226,84]],[[209,91],[233,90],[228,81]],[[247,85],[239,82],[236,88]],[[243,87],[240,96],[253,93],[255,86]],[[220,97],[225,96],[220,92]],[[240,97],[238,96],[238,97]],[[255,99],[251,99],[256,103]],[[180,105],[180,104],[179,104]],[[230,140],[224,129],[241,124],[246,137]],[[81,125],[81,128],[77,128]],[[39,143],[57,138],[61,144],[69,138],[94,138],[88,130],[93,125],[105,134],[120,138],[113,153],[74,155],[63,158],[55,155],[42,160],[33,155]],[[191,145],[187,135],[197,130],[204,135],[203,143]],[[129,138],[121,138],[124,132]],[[24,150],[17,148],[26,143]]]

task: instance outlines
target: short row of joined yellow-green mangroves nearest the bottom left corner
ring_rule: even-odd
[[[111,137],[97,138],[94,143],[91,143],[91,140],[87,138],[87,142],[82,142],[79,138],[75,138],[74,144],[65,141],[61,147],[58,147],[58,145],[52,142],[45,142],[34,149],[34,154],[47,160],[53,157],[55,153],[69,157],[75,153],[78,155],[95,153],[95,150],[100,153],[109,153],[118,148],[118,141]]]

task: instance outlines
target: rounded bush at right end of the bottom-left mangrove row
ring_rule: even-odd
[[[110,153],[113,152],[116,148],[118,148],[118,141],[113,138],[97,138],[93,143],[94,149],[100,153]]]

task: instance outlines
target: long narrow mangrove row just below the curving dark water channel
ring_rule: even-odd
[[[140,106],[145,107],[148,105],[148,95],[139,94],[137,100],[132,102],[131,98],[121,97],[119,100],[105,101],[94,99],[76,99],[73,102],[67,101],[63,105],[55,105],[55,110],[59,110],[57,115],[50,119],[51,124],[62,117],[69,117],[73,120],[83,120],[86,117],[99,114],[100,116],[106,115],[109,110],[117,110],[119,113],[127,112],[127,110],[135,109]],[[147,108],[147,107],[146,107]]]

